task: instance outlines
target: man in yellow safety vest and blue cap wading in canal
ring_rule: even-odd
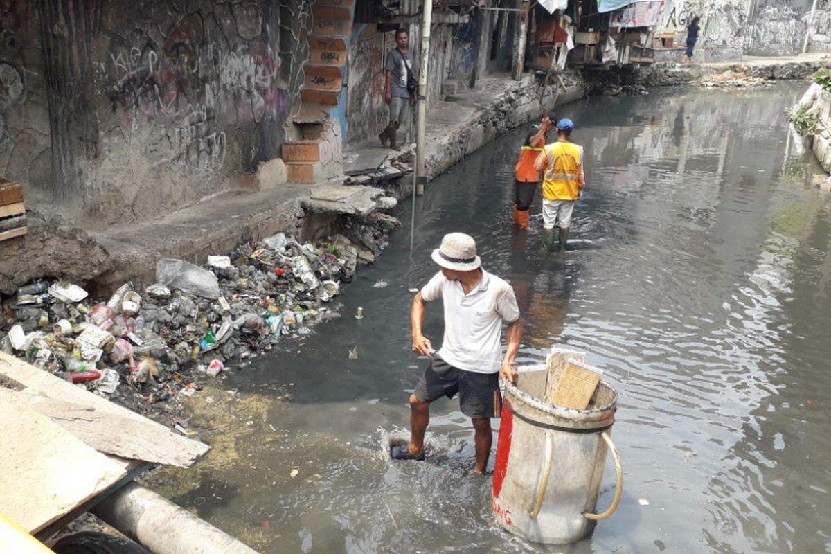
[[[574,130],[572,120],[560,120],[557,124],[557,141],[545,145],[534,162],[534,169],[543,174],[543,247],[551,250],[554,227],[560,229],[559,250],[566,249],[568,226],[574,211],[574,203],[586,186],[583,174],[583,146],[569,141]]]

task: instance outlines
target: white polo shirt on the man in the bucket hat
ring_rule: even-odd
[[[421,289],[425,302],[445,303],[445,336],[439,355],[465,371],[495,373],[502,360],[502,322],[519,319],[514,288],[482,270],[479,286],[465,296],[462,284],[438,272]]]

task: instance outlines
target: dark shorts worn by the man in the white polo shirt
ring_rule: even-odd
[[[498,418],[502,412],[499,372],[460,370],[442,360],[439,355],[433,355],[433,360],[416,385],[416,398],[422,402],[432,402],[442,396],[453,398],[457,392],[462,414],[471,419]]]

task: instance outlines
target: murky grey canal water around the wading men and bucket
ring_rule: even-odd
[[[787,133],[802,91],[558,110],[577,123],[588,182],[563,256],[541,254],[538,215],[530,233],[509,228],[524,132],[470,156],[420,200],[416,248],[402,230],[347,287],[344,317],[226,377],[236,394],[195,397],[216,453],[163,492],[262,552],[831,552],[831,213]],[[588,540],[540,547],[495,525],[457,400],[434,405],[428,462],[386,456],[425,366],[409,289],[450,231],[513,282],[523,363],[563,343],[620,392],[623,500]],[[430,306],[425,327],[436,342],[440,314]],[[600,507],[612,478],[609,463]]]

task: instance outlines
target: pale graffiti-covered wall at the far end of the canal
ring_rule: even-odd
[[[701,17],[696,49],[723,50],[707,61],[732,61],[749,56],[793,56],[802,51],[806,32],[811,49],[831,51],[831,0],[667,0],[656,32],[676,32],[680,46],[686,26]]]

